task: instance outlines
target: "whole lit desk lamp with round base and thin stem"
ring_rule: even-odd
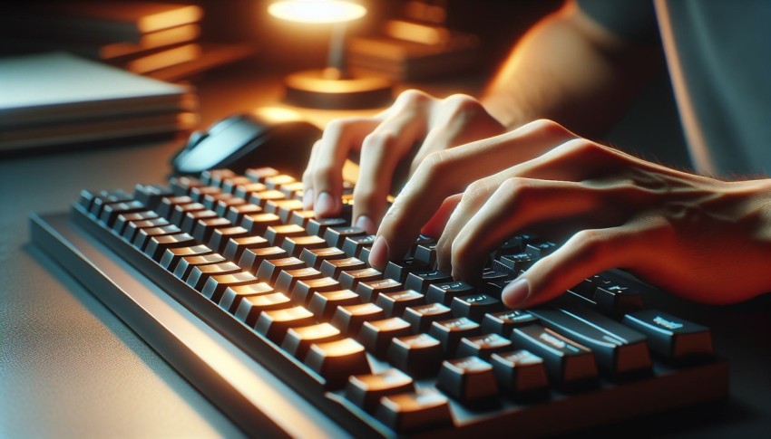
[[[352,76],[346,68],[346,24],[363,17],[366,8],[344,0],[280,0],[268,14],[303,24],[332,24],[327,68],[289,74],[286,101],[321,109],[366,109],[392,99],[391,83],[376,76]]]

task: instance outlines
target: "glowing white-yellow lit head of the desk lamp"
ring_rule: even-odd
[[[343,23],[366,14],[362,5],[342,0],[285,0],[268,6],[268,13],[298,23]]]

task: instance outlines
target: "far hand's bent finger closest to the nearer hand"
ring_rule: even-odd
[[[359,177],[354,188],[354,224],[375,234],[385,210],[396,165],[425,135],[425,115],[420,110],[385,119],[364,138]]]

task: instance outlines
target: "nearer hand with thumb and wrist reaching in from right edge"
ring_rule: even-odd
[[[442,232],[439,269],[471,282],[513,234],[571,236],[506,287],[511,307],[548,301],[613,267],[693,301],[771,291],[771,180],[688,174],[550,121],[426,157],[385,215],[370,262],[399,259],[424,227]]]

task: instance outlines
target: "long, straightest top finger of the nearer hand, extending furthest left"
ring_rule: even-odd
[[[434,152],[396,197],[378,229],[369,262],[376,267],[401,259],[444,198],[464,191],[474,180],[500,172],[524,157],[537,156],[574,135],[553,122],[533,122],[460,148]]]

